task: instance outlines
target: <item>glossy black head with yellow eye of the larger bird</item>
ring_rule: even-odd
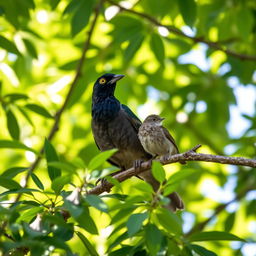
[[[99,77],[93,87],[93,97],[107,98],[113,96],[116,88],[116,82],[124,75],[104,74]]]

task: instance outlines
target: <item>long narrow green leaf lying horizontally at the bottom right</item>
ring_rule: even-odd
[[[207,231],[200,232],[196,234],[192,234],[188,237],[189,241],[241,241],[245,242],[244,239],[239,238],[236,235],[231,233],[223,232],[223,231]]]

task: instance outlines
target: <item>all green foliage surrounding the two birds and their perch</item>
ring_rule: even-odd
[[[141,119],[165,117],[180,151],[201,143],[255,158],[254,1],[122,4],[0,0],[1,253],[252,255],[251,168],[153,161],[156,192],[107,176],[111,193],[86,194],[116,171],[106,162],[116,149],[99,153],[90,127],[93,83],[106,72],[126,75],[117,98]],[[173,191],[184,212],[165,208]]]

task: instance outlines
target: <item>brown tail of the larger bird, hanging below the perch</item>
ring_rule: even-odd
[[[155,191],[159,188],[159,182],[153,177],[151,170],[145,171],[139,175],[143,180],[148,182]],[[171,202],[166,206],[167,209],[176,212],[184,209],[184,203],[178,193],[173,192],[167,196]]]

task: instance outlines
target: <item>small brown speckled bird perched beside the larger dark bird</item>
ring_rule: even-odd
[[[179,149],[174,138],[168,130],[162,126],[164,118],[158,115],[148,116],[139,128],[138,137],[146,152],[153,157],[174,155],[179,153]],[[181,161],[182,164],[186,162]],[[179,195],[174,192],[168,196],[174,203],[176,209],[184,209],[184,203]]]

